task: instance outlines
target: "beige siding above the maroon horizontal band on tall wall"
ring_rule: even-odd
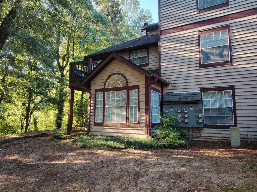
[[[256,8],[257,1],[229,0],[229,6],[209,10],[203,13],[197,13],[196,0],[161,0],[160,5],[161,30],[164,30]]]

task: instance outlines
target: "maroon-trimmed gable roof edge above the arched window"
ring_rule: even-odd
[[[111,52],[103,61],[101,61],[94,70],[92,70],[90,73],[87,74],[86,78],[83,79],[80,82],[80,85],[86,85],[90,81],[92,81],[100,72],[102,72],[114,59],[117,59],[121,61],[122,63],[132,67],[133,69],[139,71],[140,73],[144,74],[145,76],[156,80],[157,82],[164,84],[164,85],[169,85],[170,83],[162,79],[160,76],[154,73],[150,73],[149,71],[146,71],[142,67],[139,67],[138,65],[132,63],[131,61],[125,59],[124,57],[118,55],[115,52]],[[122,69],[121,69],[122,70]]]

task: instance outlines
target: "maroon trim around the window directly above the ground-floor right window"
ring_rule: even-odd
[[[230,61],[222,61],[222,62],[215,62],[215,63],[207,63],[207,64],[201,64],[201,45],[200,45],[200,35],[206,34],[206,33],[212,33],[216,31],[222,31],[222,30],[228,30],[228,42],[229,42],[229,57]],[[216,66],[224,66],[224,65],[232,65],[232,46],[231,46],[231,32],[230,32],[230,25],[209,29],[205,31],[198,31],[198,51],[199,51],[199,68],[206,68],[206,67],[216,67]]]

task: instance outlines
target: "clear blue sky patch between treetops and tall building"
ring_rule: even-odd
[[[148,9],[152,13],[153,23],[158,22],[158,1],[157,0],[140,0],[140,7]]]

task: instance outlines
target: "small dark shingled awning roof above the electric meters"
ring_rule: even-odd
[[[189,92],[171,92],[165,93],[163,97],[164,101],[200,101],[200,91],[189,91]]]

